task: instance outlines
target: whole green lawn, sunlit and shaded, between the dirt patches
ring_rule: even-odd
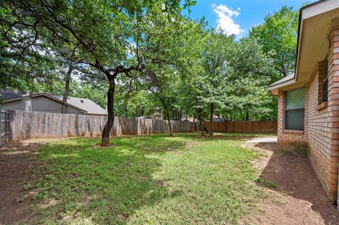
[[[258,155],[240,146],[251,136],[50,140],[31,209],[44,224],[237,224],[263,195]]]

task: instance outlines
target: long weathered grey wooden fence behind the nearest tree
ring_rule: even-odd
[[[107,116],[54,114],[37,111],[8,110],[9,139],[66,138],[101,136]],[[190,132],[191,122],[171,121],[174,132]],[[168,122],[148,118],[116,116],[111,135],[169,133]]]

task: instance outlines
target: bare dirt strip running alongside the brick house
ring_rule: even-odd
[[[253,224],[339,224],[339,212],[328,200],[306,154],[275,143],[246,143],[262,157],[254,166],[261,170],[261,181],[274,183],[268,197],[258,202]]]

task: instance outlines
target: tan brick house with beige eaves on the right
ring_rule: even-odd
[[[338,196],[339,1],[300,10],[295,74],[270,85],[278,96],[278,145],[305,146],[328,197]],[[339,200],[338,200],[339,203]]]

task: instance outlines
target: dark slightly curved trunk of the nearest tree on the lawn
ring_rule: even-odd
[[[101,145],[102,147],[107,147],[110,145],[109,142],[109,133],[111,133],[113,123],[114,123],[114,92],[115,92],[115,80],[112,78],[112,75],[107,75],[107,78],[109,79],[109,88],[107,91],[107,123],[104,127],[104,130],[102,130],[102,139],[101,139]]]

